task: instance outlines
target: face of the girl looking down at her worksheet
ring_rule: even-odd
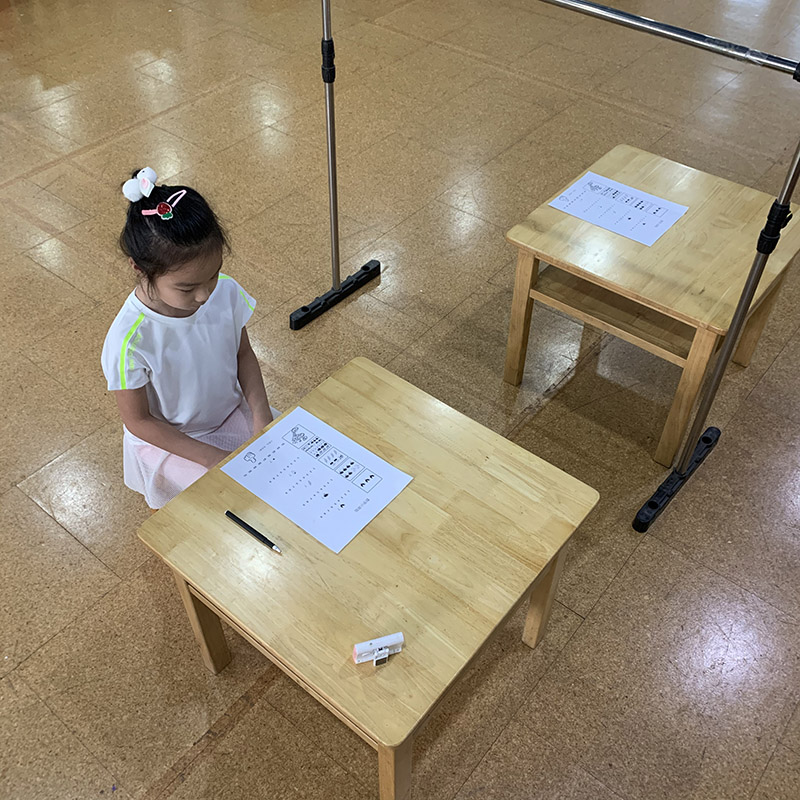
[[[177,269],[143,281],[147,299],[154,311],[171,317],[189,317],[211,297],[222,268],[222,249],[193,258]]]

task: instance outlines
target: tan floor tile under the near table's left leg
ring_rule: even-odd
[[[272,669],[240,637],[228,632],[228,642],[233,660],[214,676],[200,660],[171,574],[152,559],[19,671],[136,795]]]

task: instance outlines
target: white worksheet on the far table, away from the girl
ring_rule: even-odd
[[[594,172],[578,178],[550,205],[648,247],[655,244],[689,208]]]

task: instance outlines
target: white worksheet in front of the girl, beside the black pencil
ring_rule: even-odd
[[[411,481],[303,408],[287,414],[222,471],[334,553]]]

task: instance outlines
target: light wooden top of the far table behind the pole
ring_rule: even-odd
[[[674,319],[725,333],[774,198],[624,144],[606,153],[587,172],[689,210],[647,247],[548,206],[562,189],[514,226],[507,234],[508,241]],[[795,206],[793,210],[796,214]],[[793,220],[767,262],[754,302],[774,284],[798,250],[800,225]]]

